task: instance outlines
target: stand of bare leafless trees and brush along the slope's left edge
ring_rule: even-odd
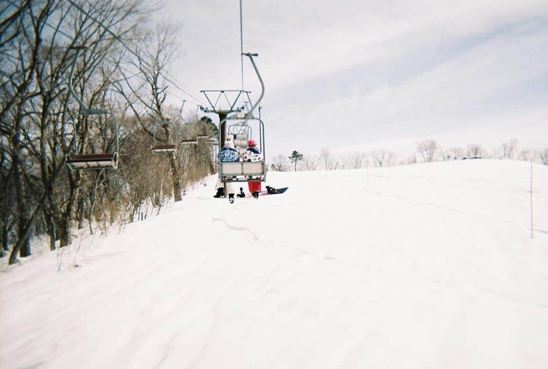
[[[189,186],[215,171],[206,140],[153,154],[158,143],[214,136],[206,117],[184,117],[166,103],[167,73],[176,56],[173,25],[147,28],[156,10],[142,0],[7,1],[0,5],[0,243],[9,262],[31,255],[31,238],[49,247],[71,243],[71,229],[104,232],[181,200]],[[82,5],[83,6],[83,5]],[[73,118],[87,107],[118,121],[117,170],[71,171],[71,154],[112,152],[110,118]],[[124,47],[130,45],[129,53]]]

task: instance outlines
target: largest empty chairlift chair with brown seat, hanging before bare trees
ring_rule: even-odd
[[[84,50],[85,48],[87,48],[86,45],[79,45],[74,47],[74,49],[76,49],[76,55],[74,56],[74,60],[72,61],[70,76],[68,77],[68,90],[78,102],[80,112],[72,118],[74,152],[73,154],[66,155],[66,164],[68,168],[73,170],[116,169],[118,167],[118,123],[116,122],[116,117],[111,112],[107,112],[102,109],[88,108],[87,106],[85,106],[85,104],[82,102],[82,100],[79,99],[78,95],[75,93],[72,87],[72,79],[74,77],[76,61],[78,60],[78,55],[80,54],[80,51]],[[78,130],[76,129],[76,119],[93,116],[109,116],[112,118],[112,128],[114,130],[114,149],[112,152],[92,154],[78,153]]]

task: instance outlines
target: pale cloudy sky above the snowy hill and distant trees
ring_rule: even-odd
[[[193,95],[241,88],[237,0],[168,0],[158,19],[180,26],[170,72]],[[243,0],[243,49],[265,81],[267,158],[403,153],[425,138],[548,147],[545,0]],[[244,89],[260,94],[248,60]]]

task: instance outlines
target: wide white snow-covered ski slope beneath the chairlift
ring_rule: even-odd
[[[288,192],[232,205],[209,178],[59,272],[54,251],[0,274],[0,367],[546,368],[529,165],[269,173]]]

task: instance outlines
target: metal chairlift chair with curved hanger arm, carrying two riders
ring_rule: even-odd
[[[262,81],[261,75],[259,74],[259,70],[257,66],[255,65],[255,61],[253,60],[253,56],[258,56],[258,54],[252,54],[252,53],[245,53],[242,54],[247,57],[249,57],[249,60],[251,61],[251,64],[253,65],[253,68],[255,70],[255,73],[257,74],[257,77],[259,78],[259,82],[261,83],[261,96],[259,96],[259,100],[255,102],[255,104],[249,109],[247,113],[236,113],[232,116],[229,116],[225,118],[222,122],[219,123],[219,126],[226,122],[228,119],[244,119],[243,122],[239,122],[236,124],[233,124],[233,126],[238,126],[240,128],[244,128],[246,125],[248,128],[245,130],[242,130],[240,133],[243,138],[244,134],[248,134],[247,137],[251,134],[251,129],[248,125],[249,120],[257,120],[259,122],[259,147],[262,152],[263,160],[260,162],[220,162],[219,160],[219,178],[222,182],[265,182],[266,181],[266,165],[264,158],[266,157],[266,149],[265,149],[265,125],[264,122],[262,122],[261,118],[255,118],[253,115],[254,109],[259,106],[262,97],[265,94],[265,84]],[[230,129],[230,127],[229,127]],[[233,128],[236,129],[236,128]],[[220,140],[220,130],[219,130],[219,140]],[[235,137],[236,138],[236,137]],[[247,140],[246,140],[246,147],[247,147]]]

